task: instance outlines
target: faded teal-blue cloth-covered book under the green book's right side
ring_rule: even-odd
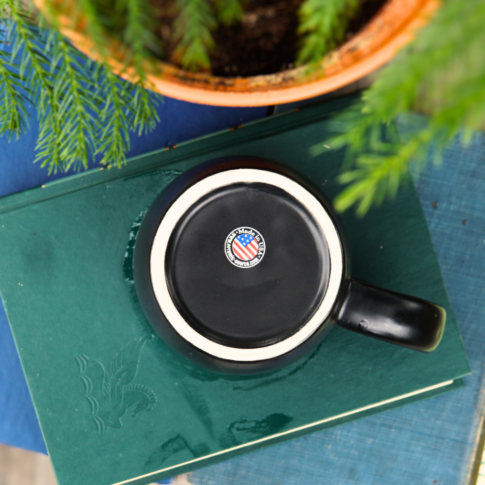
[[[191,483],[468,483],[485,405],[485,134],[450,146],[417,188],[473,371],[465,387],[200,469]]]

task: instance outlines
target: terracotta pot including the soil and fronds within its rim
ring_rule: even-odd
[[[116,74],[132,79],[127,58],[129,65],[136,56],[154,53],[144,67],[154,91],[219,106],[281,104],[356,81],[385,64],[437,5],[436,0],[131,0],[113,15],[124,2],[35,1],[74,46]],[[279,24],[284,25],[275,28]]]

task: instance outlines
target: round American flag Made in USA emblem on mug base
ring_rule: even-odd
[[[239,268],[251,268],[263,259],[264,239],[252,227],[238,227],[226,238],[224,251],[227,259]]]

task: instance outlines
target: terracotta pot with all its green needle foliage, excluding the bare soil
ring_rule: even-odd
[[[221,28],[241,17],[239,0],[220,0],[212,13],[207,0],[175,0],[169,60],[185,68],[157,57],[160,39],[146,27],[145,0],[113,1],[37,0],[38,15],[20,1],[0,0],[0,133],[18,136],[28,122],[26,102],[33,102],[41,126],[36,161],[50,170],[87,167],[97,153],[103,154],[102,164],[123,163],[129,130],[148,131],[157,121],[157,91],[208,104],[254,106],[340,87],[386,62],[436,7],[434,0],[388,0],[362,30],[339,44],[357,0],[304,0],[296,58],[301,65],[249,77],[233,75],[229,66],[230,75],[222,77],[208,72],[208,34],[216,13]],[[462,127],[482,126],[483,56],[477,46],[483,40],[483,8],[480,0],[443,2],[431,24],[364,94],[363,104],[340,118],[342,134],[314,148],[316,154],[346,145],[348,160],[355,156],[356,168],[340,178],[351,185],[337,200],[339,210],[358,203],[365,213],[395,194],[408,177],[410,160],[417,169],[422,166],[433,142],[442,148]],[[251,15],[248,22],[254,22]],[[431,118],[403,142],[395,122],[413,109]]]

